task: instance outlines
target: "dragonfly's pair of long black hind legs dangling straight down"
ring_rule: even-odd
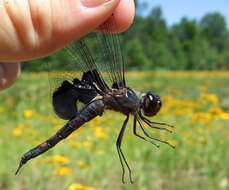
[[[121,131],[118,135],[118,139],[116,141],[116,147],[117,147],[117,151],[118,151],[118,156],[119,156],[119,160],[121,162],[121,166],[122,166],[122,182],[125,183],[125,180],[124,180],[124,176],[125,176],[125,168],[124,168],[124,164],[123,164],[123,161],[124,163],[126,164],[127,168],[128,168],[128,171],[129,171],[129,178],[130,178],[130,182],[133,183],[133,180],[132,180],[132,177],[131,177],[131,169],[126,161],[126,158],[122,152],[122,149],[121,149],[121,144],[122,144],[122,139],[123,139],[123,134],[125,132],[125,129],[126,129],[126,125],[128,123],[128,120],[129,120],[129,115],[127,116],[126,120],[124,121],[123,125],[122,125],[122,128],[121,128]]]

